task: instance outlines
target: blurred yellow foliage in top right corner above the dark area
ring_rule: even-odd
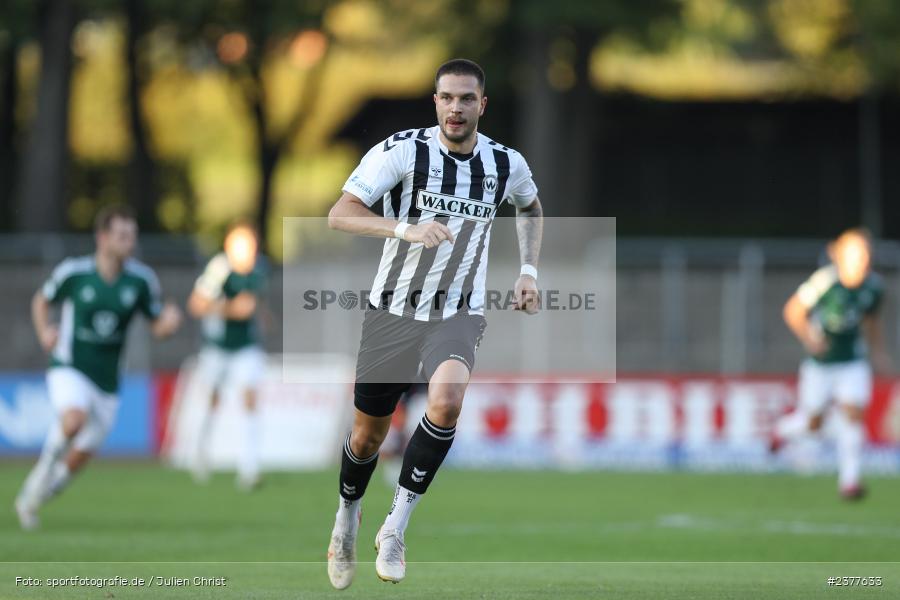
[[[900,91],[900,2],[681,0],[652,47],[617,31],[598,86],[668,99],[858,98]]]

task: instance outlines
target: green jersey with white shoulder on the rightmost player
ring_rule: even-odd
[[[841,284],[834,265],[822,267],[797,290],[797,296],[822,330],[828,349],[812,358],[821,363],[838,363],[866,358],[868,349],[862,335],[863,317],[875,314],[881,305],[884,284],[875,273],[857,288]]]

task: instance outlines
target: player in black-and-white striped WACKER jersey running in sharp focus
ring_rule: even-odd
[[[522,156],[478,132],[484,73],[456,59],[435,77],[437,126],[410,129],[372,148],[331,209],[332,228],[387,238],[362,327],[353,428],[344,444],[340,499],[328,548],[338,589],[356,569],[360,500],[400,395],[419,365],[428,382],[425,416],[403,454],[391,511],[378,531],[375,571],[406,572],[404,531],[413,508],[450,450],[485,328],[490,228],[499,204],[517,208],[522,261],[516,308],[538,310],[541,204]],[[370,207],[382,200],[383,217]]]

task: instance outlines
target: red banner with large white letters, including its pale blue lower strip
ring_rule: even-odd
[[[154,378],[157,452],[174,388],[175,374]],[[345,408],[351,403],[348,395]],[[767,446],[775,420],[795,404],[791,376],[642,374],[586,383],[492,375],[469,386],[450,460],[470,467],[790,468]],[[900,381],[876,380],[866,430],[868,468],[900,469]],[[833,464],[827,449],[819,454],[814,463]]]

